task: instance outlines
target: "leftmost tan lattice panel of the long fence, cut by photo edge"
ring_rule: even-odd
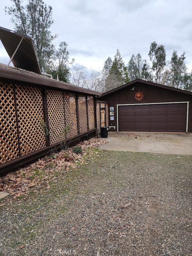
[[[19,157],[12,84],[0,83],[0,163]]]

